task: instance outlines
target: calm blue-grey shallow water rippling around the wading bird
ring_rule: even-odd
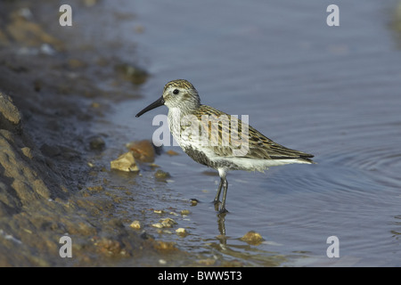
[[[315,154],[316,165],[230,173],[224,220],[210,203],[217,174],[178,147],[165,150],[179,156],[155,161],[171,175],[167,182],[152,180],[150,167],[141,175],[110,174],[143,201],[140,210],[191,211],[176,217],[176,227],[190,234],[160,234],[163,240],[244,265],[401,265],[401,53],[389,28],[397,2],[341,3],[340,27],[326,25],[329,4],[104,4],[132,12],[118,24],[119,40],[136,46],[139,63],[151,73],[139,91],[143,99],[116,103],[94,126],[110,134],[105,161],[124,151],[125,142],[151,139],[158,128],[152,118],[167,108],[135,114],[176,78],[190,80],[201,102],[249,115],[250,125],[275,142]],[[139,26],[143,32],[135,33]],[[119,56],[129,59],[130,52]],[[190,207],[189,199],[200,203]],[[139,214],[128,200],[125,207],[121,215],[127,219],[159,219]],[[151,226],[145,230],[154,232]],[[265,240],[239,240],[249,231]],[[326,255],[333,235],[340,240],[339,258]]]

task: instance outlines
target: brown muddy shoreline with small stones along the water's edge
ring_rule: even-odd
[[[92,8],[73,3],[81,17]],[[109,147],[91,124],[115,100],[140,97],[145,72],[121,77],[125,62],[79,35],[69,42],[70,30],[49,25],[58,15],[49,11],[57,4],[0,4],[0,266],[196,265],[174,243],[116,217],[119,195],[99,178],[109,170],[91,163]],[[99,77],[133,92],[111,96]],[[66,235],[73,258],[59,254]]]

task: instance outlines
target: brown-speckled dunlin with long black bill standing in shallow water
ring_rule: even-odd
[[[193,160],[215,168],[220,176],[215,205],[225,213],[228,170],[263,172],[268,167],[291,163],[314,163],[312,154],[288,149],[259,133],[241,119],[213,107],[202,105],[195,87],[184,79],[164,86],[157,101],[141,110],[136,117],[161,105],[168,107],[170,132],[183,151]]]

